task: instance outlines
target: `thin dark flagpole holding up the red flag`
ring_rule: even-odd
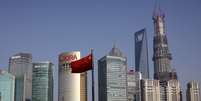
[[[91,55],[92,55],[92,70],[91,70],[91,76],[92,76],[92,101],[95,101],[95,94],[94,94],[94,56],[93,56],[93,49],[91,49]]]

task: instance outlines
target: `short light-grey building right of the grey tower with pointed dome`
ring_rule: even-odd
[[[128,101],[141,101],[140,80],[142,74],[129,70],[127,72],[127,97]]]

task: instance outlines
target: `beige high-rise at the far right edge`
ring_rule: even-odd
[[[186,101],[200,101],[200,85],[197,81],[190,81],[187,84]]]

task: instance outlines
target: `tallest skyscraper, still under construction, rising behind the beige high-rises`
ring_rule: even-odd
[[[155,31],[153,40],[154,78],[164,81],[176,78],[176,73],[173,71],[170,64],[172,56],[165,35],[165,14],[160,8],[155,10],[153,21]]]

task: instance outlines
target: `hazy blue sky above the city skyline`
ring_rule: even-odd
[[[33,54],[34,62],[58,54],[94,48],[95,58],[114,43],[134,66],[133,33],[147,29],[149,64],[153,74],[152,13],[155,0],[0,0],[0,68],[18,52]],[[189,80],[201,81],[201,0],[160,0],[166,14],[166,34],[172,66],[185,91]],[[185,97],[185,95],[184,95]],[[56,100],[55,100],[56,101]]]

